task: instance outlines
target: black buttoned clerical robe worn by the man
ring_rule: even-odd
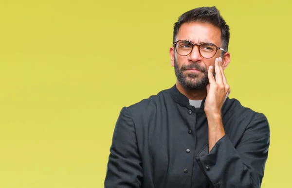
[[[208,122],[176,85],[123,107],[105,188],[260,188],[270,144],[265,115],[227,98],[226,135],[209,153]]]

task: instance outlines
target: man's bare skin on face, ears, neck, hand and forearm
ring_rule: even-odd
[[[221,31],[218,27],[213,26],[209,23],[190,22],[183,23],[176,36],[178,40],[189,40],[193,44],[201,44],[202,42],[210,42],[218,47],[222,46],[221,43]],[[225,49],[226,50],[226,49]],[[208,121],[208,141],[209,141],[209,152],[215,146],[216,142],[219,141],[225,135],[224,127],[222,124],[221,107],[224,103],[225,97],[230,93],[230,87],[227,84],[227,80],[224,74],[224,69],[230,62],[230,53],[224,51],[217,51],[214,57],[210,59],[203,58],[200,53],[198,46],[195,46],[193,51],[187,56],[179,55],[174,47],[169,50],[171,58],[171,66],[174,67],[175,59],[177,64],[181,68],[182,65],[189,65],[196,63],[201,67],[208,69],[208,79],[210,84],[206,88],[191,90],[183,87],[177,80],[176,86],[178,90],[190,100],[202,100],[206,97],[204,111],[206,113]],[[214,78],[212,72],[215,68],[216,76]],[[186,77],[187,73],[197,74],[197,78]],[[183,75],[186,77],[188,82],[196,83],[198,79],[204,76],[199,70],[185,70]]]

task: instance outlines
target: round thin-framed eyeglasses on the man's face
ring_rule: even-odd
[[[199,53],[201,54],[202,57],[206,59],[210,59],[214,57],[214,55],[217,53],[218,50],[227,52],[224,49],[219,48],[215,44],[212,44],[209,42],[203,42],[201,44],[193,44],[192,42],[188,40],[178,40],[174,42],[173,45],[176,51],[178,52],[178,54],[182,56],[189,55],[193,51],[194,46],[199,47]]]

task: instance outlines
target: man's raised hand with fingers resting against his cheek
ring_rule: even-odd
[[[219,115],[221,116],[222,105],[230,93],[230,87],[222,68],[222,58],[215,59],[215,73],[216,80],[213,76],[213,66],[208,69],[208,78],[210,84],[207,85],[207,97],[205,100],[205,113],[206,116]]]

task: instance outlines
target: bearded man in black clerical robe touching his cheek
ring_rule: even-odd
[[[169,51],[177,82],[122,108],[106,188],[260,188],[269,123],[227,97],[229,37],[216,7],[179,17]]]

